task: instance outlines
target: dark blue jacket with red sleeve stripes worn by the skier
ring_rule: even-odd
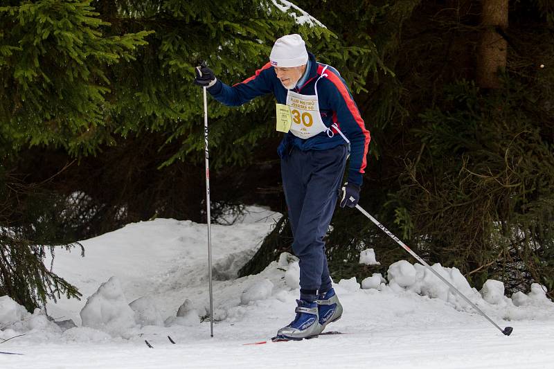
[[[307,72],[307,81],[302,87],[294,89],[295,92],[303,95],[315,95],[315,82],[325,66],[325,64],[316,62],[314,55],[311,53],[309,55],[310,70]],[[364,120],[361,119],[352,94],[339,72],[329,66],[325,70],[325,74],[328,76],[317,82],[321,118],[327,127],[337,123],[341,132],[350,141],[348,182],[361,185],[361,174],[364,173],[366,168],[370,134],[364,126]],[[277,78],[274,67],[267,63],[262,69],[258,69],[252,77],[235,84],[233,87],[217,80],[208,89],[208,92],[222,104],[236,107],[266,93],[273,93],[278,103],[286,104],[288,91]],[[283,157],[289,152],[292,145],[300,150],[327,150],[344,143],[344,138],[338,133],[334,134],[332,138],[326,132],[321,132],[311,138],[303,139],[289,132],[285,134],[283,141],[281,141],[278,152]]]

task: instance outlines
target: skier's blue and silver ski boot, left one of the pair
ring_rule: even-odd
[[[319,325],[319,315],[317,314],[317,303],[310,303],[305,300],[296,300],[298,306],[294,310],[296,318],[286,327],[277,332],[273,341],[300,341],[301,339],[311,339],[319,335],[322,331]]]

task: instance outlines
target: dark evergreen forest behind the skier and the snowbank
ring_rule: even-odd
[[[1,1],[0,296],[28,309],[79,296],[44,265],[59,247],[85,253],[76,240],[206,222],[194,68],[240,82],[300,33],[371,132],[361,206],[477,288],[539,282],[553,297],[554,2],[293,2]],[[286,214],[274,109],[270,96],[238,109],[208,98],[213,221],[246,204]],[[242,275],[291,242],[285,216]],[[333,278],[406,258],[353,209],[337,209],[326,242]],[[358,263],[368,247],[380,267]]]

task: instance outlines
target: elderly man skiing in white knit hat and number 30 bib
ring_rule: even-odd
[[[250,78],[231,87],[203,64],[196,68],[195,84],[224,105],[239,106],[267,93],[278,102],[278,130],[287,132],[278,154],[301,289],[296,318],[275,339],[318,336],[343,310],[332,288],[323,237],[337,197],[342,208],[359,200],[370,141],[346,82],[332,66],[316,62],[294,34],[277,39],[269,62]],[[348,156],[348,179],[341,187]]]

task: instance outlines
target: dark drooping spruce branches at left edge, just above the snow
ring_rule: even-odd
[[[0,167],[0,296],[10,296],[30,312],[62,295],[80,298],[71,282],[52,271],[56,249],[77,247],[84,255],[78,242],[64,242],[59,234],[66,223],[60,210],[69,208],[60,195],[30,186]]]

